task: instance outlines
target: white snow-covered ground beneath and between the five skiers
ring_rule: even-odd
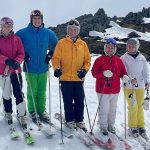
[[[92,57],[92,64],[93,61],[96,59],[96,57]],[[53,76],[53,70],[51,68],[50,70],[50,77],[51,77],[51,101],[52,101],[52,122],[58,126],[60,126],[59,122],[54,119],[54,114],[56,112],[59,112],[59,92],[58,92],[58,79],[56,79]],[[26,93],[26,81],[24,79],[24,92]],[[97,100],[97,95],[95,93],[95,79],[92,77],[91,72],[89,71],[85,80],[85,94],[86,94],[86,100],[89,106],[89,112],[90,112],[90,118],[91,122],[94,120],[94,116],[97,110],[98,106],[98,100]],[[0,92],[1,96],[1,92]],[[47,87],[47,99],[48,99],[48,87]],[[13,99],[14,100],[14,99]],[[14,103],[14,102],[13,102]],[[14,105],[15,108],[15,105]],[[47,101],[47,110],[48,110],[48,101]],[[10,140],[10,137],[8,135],[8,127],[3,119],[3,109],[2,106],[0,108],[0,150],[86,150],[88,149],[87,147],[84,146],[80,142],[79,139],[74,138],[74,139],[67,139],[64,138],[64,143],[63,145],[60,145],[59,143],[61,142],[60,139],[60,133],[57,131],[54,131],[56,135],[52,139],[46,139],[45,136],[37,130],[37,127],[33,124],[31,124],[31,127],[34,129],[31,131],[33,136],[35,137],[36,143],[34,146],[28,146],[25,144],[23,135],[20,132],[20,139],[18,141],[12,141]],[[19,126],[16,122],[16,114],[14,111],[14,120],[15,124],[18,130]],[[145,112],[145,123],[146,123],[146,129],[147,133],[150,136],[150,111]],[[85,122],[88,126],[88,119],[87,119],[87,114],[85,111]],[[118,100],[118,108],[117,108],[117,119],[116,119],[116,128],[118,133],[124,137],[124,129],[121,127],[120,124],[124,123],[124,96],[123,92],[121,91],[119,100]],[[89,126],[88,126],[89,128]],[[94,133],[98,134],[98,125],[95,124],[94,127]],[[129,143],[134,146],[134,150],[142,150],[140,144],[132,139],[129,140]],[[100,149],[99,147],[94,146],[94,150]],[[119,148],[116,148],[119,149]]]

